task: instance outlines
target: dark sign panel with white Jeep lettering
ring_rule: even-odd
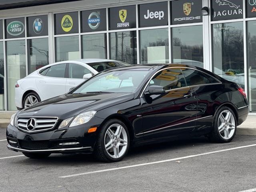
[[[139,16],[140,27],[168,25],[168,2],[140,4]]]

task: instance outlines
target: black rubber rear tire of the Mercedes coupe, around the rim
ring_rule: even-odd
[[[234,116],[234,121],[235,121],[235,128],[234,128],[234,134],[231,138],[229,139],[224,139],[219,130],[218,130],[218,118],[220,116],[220,114],[224,111],[224,110],[229,110],[233,116]],[[233,112],[233,110],[227,106],[223,106],[220,109],[218,109],[218,111],[216,112],[215,116],[214,116],[214,120],[213,120],[213,127],[212,127],[212,132],[209,135],[209,139],[212,142],[219,142],[219,143],[228,143],[230,141],[232,141],[232,139],[234,138],[234,136],[236,135],[236,126],[237,126],[237,120],[236,120],[236,116]]]

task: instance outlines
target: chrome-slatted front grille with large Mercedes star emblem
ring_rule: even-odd
[[[53,129],[57,121],[57,117],[18,117],[17,124],[25,132],[40,132]]]

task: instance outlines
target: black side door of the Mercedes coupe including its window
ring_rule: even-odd
[[[161,70],[149,86],[162,86],[165,94],[144,95],[141,98],[144,138],[173,136],[194,130],[197,99],[186,85],[180,68]],[[148,88],[147,88],[148,89]]]

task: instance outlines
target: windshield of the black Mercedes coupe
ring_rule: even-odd
[[[135,92],[144,80],[148,70],[120,70],[103,72],[82,84],[72,94],[104,93],[104,92]]]

